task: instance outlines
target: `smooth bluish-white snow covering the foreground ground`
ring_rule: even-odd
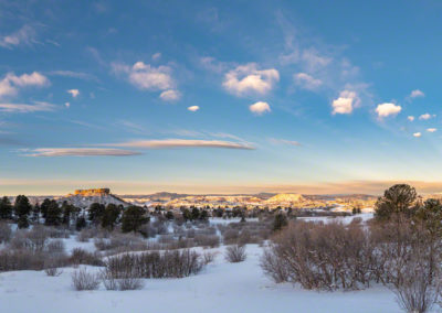
[[[227,262],[224,247],[212,250],[219,255],[200,274],[146,279],[144,289],[137,291],[107,291],[103,285],[96,291],[75,291],[72,268],[65,268],[60,277],[43,271],[3,272],[0,312],[401,312],[393,294],[382,287],[316,292],[275,284],[260,268],[262,248],[256,245],[248,246],[248,259],[242,263]]]

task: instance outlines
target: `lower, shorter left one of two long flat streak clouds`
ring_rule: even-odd
[[[129,156],[140,152],[106,148],[40,148],[27,151],[25,156]]]

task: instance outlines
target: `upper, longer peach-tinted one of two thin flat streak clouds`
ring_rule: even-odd
[[[126,147],[138,149],[171,149],[171,148],[224,148],[254,150],[249,143],[221,141],[221,140],[196,140],[196,139],[162,139],[162,140],[139,140],[123,143],[102,144],[109,147]]]

